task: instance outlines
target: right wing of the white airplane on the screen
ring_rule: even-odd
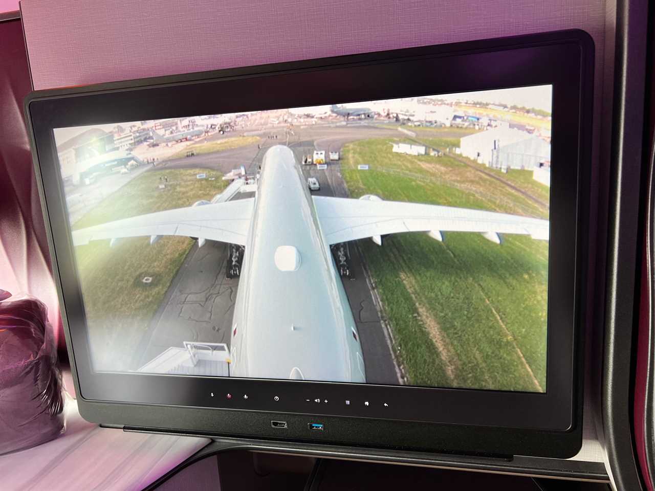
[[[329,244],[371,237],[379,243],[385,234],[398,232],[479,232],[493,242],[498,234],[524,234],[548,240],[548,220],[468,208],[453,208],[373,199],[313,196],[318,221]]]

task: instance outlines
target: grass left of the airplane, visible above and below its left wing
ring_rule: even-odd
[[[207,179],[197,179],[200,172]],[[159,189],[164,175],[168,184]],[[207,170],[145,172],[88,211],[73,229],[191,206],[211,200],[224,187],[221,174]],[[193,243],[190,238],[164,237],[149,245],[149,238],[139,237],[122,239],[111,248],[108,240],[75,248],[97,369],[137,368],[131,366],[134,350]],[[145,285],[144,276],[153,281]]]

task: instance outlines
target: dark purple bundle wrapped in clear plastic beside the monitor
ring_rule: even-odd
[[[62,374],[47,307],[0,289],[0,454],[64,431]]]

